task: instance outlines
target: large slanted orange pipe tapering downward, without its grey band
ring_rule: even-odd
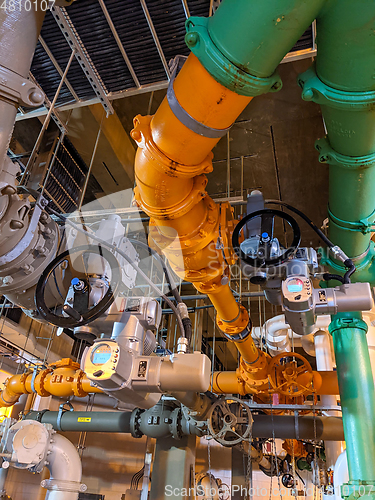
[[[230,126],[251,100],[218,83],[193,54],[178,74],[174,91],[190,116],[216,129]],[[135,117],[131,136],[138,144],[135,200],[150,216],[150,245],[163,251],[178,276],[208,295],[224,333],[243,332],[249,316],[229,288],[228,264],[217,245],[232,221],[226,219],[220,227],[220,207],[205,189],[205,174],[212,171],[211,149],[219,139],[188,129],[166,98],[153,117]],[[226,241],[230,245],[230,238]],[[250,335],[236,345],[251,379],[265,383],[265,354]]]

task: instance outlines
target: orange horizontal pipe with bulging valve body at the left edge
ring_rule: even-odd
[[[22,394],[32,394],[33,372],[13,375],[5,381],[0,395],[0,407],[13,406]],[[79,363],[64,358],[40,370],[34,379],[34,390],[39,396],[85,397],[90,393],[102,392],[92,387]]]

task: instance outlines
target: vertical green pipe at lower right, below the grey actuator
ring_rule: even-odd
[[[329,326],[337,363],[350,481],[375,480],[375,395],[367,325],[340,314]]]

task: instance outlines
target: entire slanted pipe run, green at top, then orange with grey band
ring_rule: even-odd
[[[229,255],[231,248],[223,241],[231,240],[233,220],[225,220],[207,195],[205,174],[212,171],[212,148],[252,96],[281,87],[279,79],[269,75],[323,3],[274,0],[269,5],[256,0],[224,0],[215,19],[209,20],[209,28],[207,19],[189,19],[186,41],[195,55],[188,57],[172,79],[168,96],[156,114],[138,115],[131,132],[139,146],[135,198],[150,216],[150,244],[164,252],[180,277],[209,296],[220,329],[236,342],[243,370],[260,385],[267,379],[267,360],[251,339],[247,311],[236,303],[228,286],[224,254]],[[249,34],[254,37],[252,43]],[[204,56],[207,44],[211,51],[208,59]],[[242,47],[247,46],[249,50],[243,52]],[[232,55],[233,61],[228,59]],[[253,69],[255,74],[250,74]],[[241,90],[233,84],[240,80],[244,81]],[[218,241],[227,247],[224,251]]]

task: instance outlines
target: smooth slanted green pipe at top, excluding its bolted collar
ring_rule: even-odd
[[[209,19],[214,44],[233,64],[261,78],[276,67],[326,0],[224,0]]]

